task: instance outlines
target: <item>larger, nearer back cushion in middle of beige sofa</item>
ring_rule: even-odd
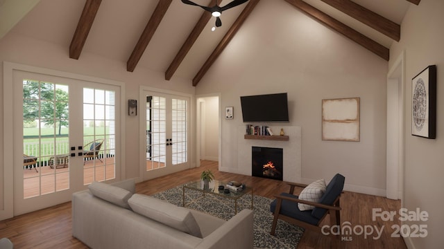
[[[202,233],[200,232],[196,219],[194,219],[190,210],[186,208],[178,207],[144,194],[133,194],[128,200],[128,203],[137,214],[191,234],[194,237],[202,238]]]

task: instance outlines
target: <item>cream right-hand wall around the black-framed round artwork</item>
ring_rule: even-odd
[[[444,1],[422,0],[411,6],[401,26],[399,43],[391,46],[390,65],[402,51],[406,54],[405,86],[405,166],[404,200],[407,210],[420,208],[429,214],[428,221],[408,222],[427,225],[427,237],[407,238],[409,248],[442,248],[444,213]],[[411,136],[411,79],[429,65],[437,67],[437,131],[436,139]]]

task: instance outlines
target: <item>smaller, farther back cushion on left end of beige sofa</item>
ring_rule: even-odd
[[[122,208],[130,209],[128,199],[130,199],[133,194],[128,190],[123,190],[123,188],[96,181],[89,184],[88,188],[94,196],[109,201],[115,205],[119,205]]]

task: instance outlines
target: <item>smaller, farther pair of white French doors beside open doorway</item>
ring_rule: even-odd
[[[142,91],[143,178],[189,168],[189,98]]]

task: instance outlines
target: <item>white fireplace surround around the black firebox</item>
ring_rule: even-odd
[[[302,165],[302,140],[301,127],[270,127],[280,131],[284,129],[285,135],[289,139],[286,142],[282,140],[263,140],[263,139],[245,139],[245,125],[240,125],[237,129],[237,167],[239,174],[252,175],[251,173],[251,147],[275,147],[282,148],[284,156],[284,178],[283,181],[300,183],[301,165]],[[257,136],[255,136],[257,137]]]

